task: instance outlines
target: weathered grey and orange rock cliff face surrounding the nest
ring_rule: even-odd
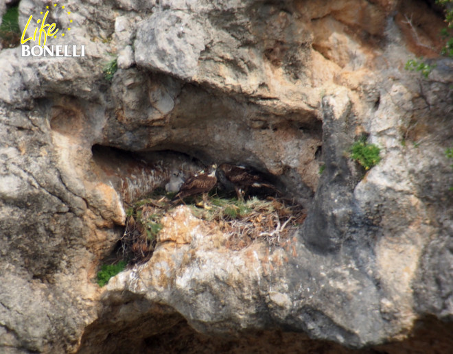
[[[21,29],[49,4],[21,0]],[[453,61],[429,1],[63,5],[59,43],[86,57],[0,51],[1,351],[453,347]],[[415,56],[427,78],[404,70]],[[362,136],[382,148],[366,173]],[[272,176],[307,219],[233,250],[179,207],[151,259],[100,288],[126,203],[213,162]]]

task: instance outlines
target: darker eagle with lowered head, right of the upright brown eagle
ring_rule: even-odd
[[[265,182],[262,176],[248,167],[232,165],[231,163],[222,163],[217,171],[218,179],[222,185],[229,191],[234,189],[238,200],[244,200],[244,194],[246,194],[248,187],[266,187],[276,190],[273,185]]]

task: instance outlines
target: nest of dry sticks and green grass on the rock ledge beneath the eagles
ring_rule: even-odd
[[[173,195],[162,194],[162,191],[156,191],[128,209],[119,257],[131,263],[143,263],[151,258],[156,236],[163,227],[160,221],[176,208],[170,204]],[[214,192],[207,200],[207,209],[197,207],[195,202],[194,198],[187,198],[185,204],[195,217],[216,223],[227,235],[225,246],[232,250],[246,248],[258,240],[279,246],[296,231],[307,215],[301,205],[271,197],[242,201],[222,198]]]

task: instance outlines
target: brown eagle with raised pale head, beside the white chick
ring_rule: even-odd
[[[217,165],[212,165],[211,172],[201,171],[187,178],[172,199],[172,203],[198,194],[203,194],[203,202],[206,203],[207,193],[217,184],[216,169]]]

